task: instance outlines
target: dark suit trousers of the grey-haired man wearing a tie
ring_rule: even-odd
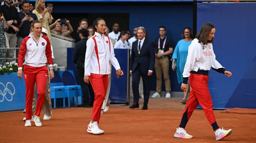
[[[141,72],[139,65],[135,68],[132,73],[132,92],[133,100],[135,103],[139,102],[139,80],[142,77],[143,81],[143,95],[144,95],[144,105],[148,104],[149,90],[150,90],[150,77],[147,74]]]

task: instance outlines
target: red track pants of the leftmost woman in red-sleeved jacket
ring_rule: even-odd
[[[26,120],[31,120],[32,116],[32,102],[35,83],[37,84],[37,102],[35,115],[40,116],[40,112],[44,104],[47,76],[48,70],[46,66],[24,66],[23,77],[26,85]]]

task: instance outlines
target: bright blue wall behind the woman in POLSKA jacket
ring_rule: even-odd
[[[216,26],[214,53],[232,77],[211,70],[209,90],[214,109],[256,108],[256,3],[198,3],[197,31]]]

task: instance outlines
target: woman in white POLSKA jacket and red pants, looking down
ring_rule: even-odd
[[[189,45],[188,57],[183,71],[183,82],[181,89],[185,92],[187,88],[188,78],[192,90],[189,94],[189,100],[184,109],[179,128],[176,129],[174,137],[191,139],[193,136],[185,131],[193,111],[198,104],[203,108],[204,114],[215,131],[216,140],[221,140],[231,134],[232,130],[220,129],[214,113],[213,104],[208,89],[209,70],[212,67],[218,73],[225,74],[230,77],[231,72],[225,70],[224,67],[215,59],[213,52],[213,38],[216,27],[211,23],[205,23],[195,39]]]

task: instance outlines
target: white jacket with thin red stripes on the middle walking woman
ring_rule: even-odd
[[[91,73],[100,75],[110,74],[109,61],[116,70],[120,69],[114,55],[114,48],[110,38],[95,32],[86,42],[84,76],[90,76]]]

